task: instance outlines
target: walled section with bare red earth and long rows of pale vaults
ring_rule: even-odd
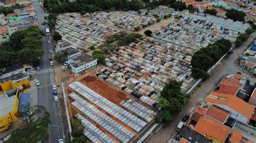
[[[157,112],[96,76],[66,87],[72,116],[81,119],[92,142],[131,142],[145,131]],[[142,104],[140,104],[142,103]]]

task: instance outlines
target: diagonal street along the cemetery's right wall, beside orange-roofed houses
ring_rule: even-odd
[[[191,96],[190,100],[184,106],[184,109],[181,113],[173,119],[170,123],[166,124],[161,130],[153,137],[150,142],[168,142],[176,133],[176,126],[179,121],[185,115],[188,115],[193,112],[194,108],[203,101],[205,96],[207,96],[215,87],[215,85],[220,81],[220,79],[227,74],[235,74],[240,71],[237,67],[234,66],[234,61],[244,52],[244,49],[249,45],[253,39],[256,37],[256,32],[250,35],[250,38],[238,48],[234,49],[233,54],[231,54],[228,59],[226,59],[218,69],[214,71],[211,77],[205,81],[201,87]],[[246,77],[249,77],[246,74],[242,74]]]

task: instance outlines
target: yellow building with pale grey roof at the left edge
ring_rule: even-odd
[[[21,91],[18,88],[11,89],[0,95],[0,132],[8,129],[11,123],[17,123],[19,96]]]

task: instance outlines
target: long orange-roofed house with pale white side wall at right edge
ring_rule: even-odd
[[[203,107],[218,106],[230,112],[230,117],[244,124],[249,124],[255,107],[237,96],[212,91],[205,99]]]

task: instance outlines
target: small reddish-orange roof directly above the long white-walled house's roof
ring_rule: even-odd
[[[233,85],[225,85],[225,84],[218,84],[219,90],[214,90],[215,92],[223,93],[223,94],[232,94],[236,95],[240,87],[233,86]]]

